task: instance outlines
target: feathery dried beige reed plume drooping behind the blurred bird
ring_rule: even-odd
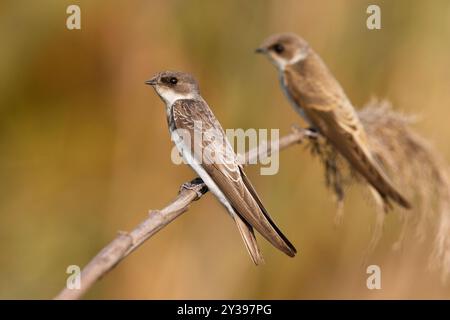
[[[394,112],[387,101],[373,99],[359,112],[374,156],[402,193],[413,203],[412,210],[397,206],[402,230],[394,248],[398,248],[408,230],[423,241],[427,233],[435,235],[430,267],[439,268],[445,282],[450,275],[450,183],[447,164],[426,139],[413,132],[411,116]],[[343,215],[346,188],[365,183],[352,171],[336,150],[323,139],[311,140],[309,147],[325,169],[327,186],[337,200],[337,221]],[[381,237],[385,210],[381,199],[372,193],[377,204],[377,219],[368,252]]]

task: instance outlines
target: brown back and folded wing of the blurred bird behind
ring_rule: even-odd
[[[387,201],[392,198],[405,208],[410,204],[393,187],[372,156],[362,124],[342,87],[319,55],[285,71],[293,100],[309,121]]]

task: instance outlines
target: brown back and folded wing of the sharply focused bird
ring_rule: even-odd
[[[202,167],[225,195],[236,213],[276,248],[289,256],[294,256],[295,248],[286,241],[286,237],[275,226],[272,219],[268,215],[266,216],[266,210],[259,199],[255,199],[244,182],[243,171],[236,160],[236,155],[206,102],[178,100],[172,108],[175,127],[189,130],[192,137],[192,152],[197,159],[202,160]],[[195,148],[193,139],[195,134],[199,134],[200,129],[204,133],[203,145],[201,148]],[[248,179],[245,178],[245,181]]]

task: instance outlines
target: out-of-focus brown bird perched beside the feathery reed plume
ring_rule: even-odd
[[[256,49],[278,69],[281,87],[305,121],[377,191],[385,203],[410,203],[396,190],[370,150],[366,132],[339,82],[308,43],[293,33],[276,34]]]

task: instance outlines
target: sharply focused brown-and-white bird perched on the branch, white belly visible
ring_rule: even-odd
[[[293,257],[296,249],[275,225],[238,163],[226,135],[190,74],[165,71],[146,81],[166,104],[172,141],[236,222],[255,264],[263,262],[253,228]],[[187,137],[186,137],[187,135]]]

